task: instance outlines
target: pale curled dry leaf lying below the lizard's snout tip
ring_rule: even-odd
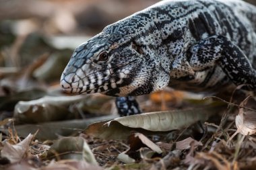
[[[67,106],[84,98],[83,95],[44,96],[32,101],[19,101],[15,105],[14,118],[27,123],[63,120],[70,114]]]

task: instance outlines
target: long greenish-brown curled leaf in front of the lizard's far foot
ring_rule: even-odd
[[[110,121],[91,124],[86,134],[99,138],[125,139],[131,131],[156,134],[185,128],[197,121],[205,121],[222,110],[221,105],[205,106],[191,110],[171,110],[125,116]]]

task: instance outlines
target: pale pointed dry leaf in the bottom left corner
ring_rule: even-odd
[[[6,157],[11,163],[21,161],[24,155],[28,152],[28,146],[33,138],[32,134],[29,134],[22,142],[18,144],[9,144],[5,142],[1,151],[1,157]]]

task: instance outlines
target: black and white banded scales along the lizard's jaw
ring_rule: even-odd
[[[83,71],[84,67],[86,66],[68,75],[65,75],[65,72],[63,73],[61,87],[66,93],[102,93],[117,89],[125,83],[125,79],[128,78],[131,71],[129,69],[121,69],[115,73],[113,69],[106,69],[104,72],[100,70],[86,75]],[[117,67],[114,69],[117,69]]]

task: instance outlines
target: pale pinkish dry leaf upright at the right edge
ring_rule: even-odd
[[[242,103],[242,107],[251,108],[253,105],[255,105],[255,100],[250,100],[251,102],[247,104],[247,101],[249,101],[249,97],[245,99]],[[237,132],[240,132],[243,135],[251,135],[255,134],[256,132],[256,110],[247,110],[245,108],[240,108],[239,113],[236,116],[236,128]],[[235,134],[236,134],[235,133]],[[234,135],[233,135],[234,136]]]

